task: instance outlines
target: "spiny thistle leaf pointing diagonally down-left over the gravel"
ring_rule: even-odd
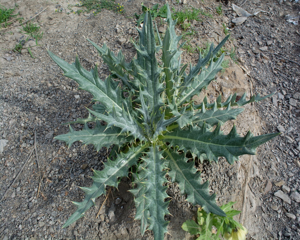
[[[73,202],[77,210],[64,223],[63,228],[83,217],[85,211],[92,205],[95,205],[95,199],[105,194],[105,187],[107,185],[118,187],[118,178],[128,176],[129,167],[137,164],[145,148],[145,146],[129,148],[127,153],[119,154],[115,161],[107,159],[107,163],[104,163],[104,170],[94,170],[94,176],[91,177],[93,179],[91,187],[81,187],[85,192],[85,199],[82,202]]]

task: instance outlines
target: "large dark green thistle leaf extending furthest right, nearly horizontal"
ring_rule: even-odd
[[[238,161],[238,156],[254,155],[256,147],[279,134],[272,133],[253,137],[249,131],[245,137],[239,137],[236,134],[235,126],[228,135],[224,135],[223,131],[220,131],[220,125],[217,125],[211,132],[203,124],[201,130],[192,127],[185,131],[176,129],[166,133],[161,139],[164,142],[170,142],[172,146],[179,146],[180,150],[190,151],[198,157],[205,154],[210,161],[217,161],[217,157],[225,157],[229,164],[233,164],[234,161]]]

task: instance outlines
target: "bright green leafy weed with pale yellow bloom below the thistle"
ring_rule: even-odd
[[[202,208],[197,211],[197,223],[194,220],[187,220],[182,224],[182,229],[192,235],[200,235],[196,240],[221,240],[220,235],[225,240],[245,240],[247,229],[233,217],[241,213],[234,210],[229,202],[220,208],[226,216],[218,216],[213,213],[206,213]]]

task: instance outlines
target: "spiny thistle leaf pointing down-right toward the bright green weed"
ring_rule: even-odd
[[[199,204],[206,212],[212,212],[220,216],[226,214],[217,206],[215,194],[210,195],[208,181],[201,184],[201,174],[194,167],[195,162],[187,163],[184,154],[179,155],[175,150],[167,150],[163,147],[169,161],[168,168],[172,182],[177,182],[181,194],[187,194],[186,200],[193,205]]]

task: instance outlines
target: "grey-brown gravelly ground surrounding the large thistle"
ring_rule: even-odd
[[[152,6],[156,2],[144,3]],[[195,35],[190,44],[196,47],[206,41],[219,42],[225,36],[222,23],[228,24],[232,37],[226,48],[236,47],[241,67],[230,60],[229,68],[208,89],[208,98],[214,101],[219,93],[226,95],[227,90],[249,90],[249,96],[276,92],[266,101],[247,106],[236,124],[240,133],[251,129],[255,134],[282,134],[259,147],[258,155],[241,158],[240,165],[229,166],[220,159],[219,165],[205,163],[197,167],[203,178],[210,180],[219,202],[238,201],[236,206],[243,211],[239,220],[249,229],[250,239],[300,239],[300,34],[299,25],[285,19],[287,14],[299,16],[299,2],[243,2],[245,10],[263,12],[232,27],[231,20],[237,17],[232,3],[240,6],[242,1],[222,2],[223,16],[216,14],[217,1],[187,1],[187,5],[201,7],[214,17],[202,16],[202,21],[194,24]],[[62,123],[87,116],[85,107],[91,107],[92,97],[61,75],[46,54],[46,47],[68,62],[74,61],[77,53],[86,69],[98,63],[99,76],[104,79],[108,68],[84,36],[99,45],[106,41],[115,52],[122,47],[126,60],[132,58],[135,50],[130,39],[135,39],[137,33],[135,20],[128,17],[140,11],[141,1],[120,3],[125,15],[103,10],[97,16],[78,16],[66,14],[68,4],[75,4],[73,1],[48,5],[32,0],[1,2],[7,7],[18,4],[17,10],[25,19],[48,7],[36,19],[44,31],[39,41],[42,46],[32,48],[36,58],[31,58],[25,49],[22,54],[7,50],[25,37],[17,27],[1,32],[0,146],[5,145],[0,151],[1,240],[153,239],[149,231],[140,237],[133,197],[127,192],[132,187],[130,179],[123,179],[118,190],[108,189],[98,218],[98,210],[92,208],[85,218],[61,229],[74,211],[70,200],[83,198],[77,186],[91,184],[87,177],[92,175],[91,168],[101,170],[108,151],[101,149],[97,153],[78,142],[68,149],[53,139],[68,131]],[[196,53],[183,54],[183,62],[195,63],[196,58]],[[225,86],[224,79],[232,81],[232,86]],[[82,127],[73,126],[75,130]],[[230,124],[225,126],[225,131],[229,127]],[[173,197],[169,209],[172,215],[166,216],[171,223],[170,235],[165,239],[192,239],[181,225],[195,216],[196,208],[184,201],[176,184],[170,185],[168,194]],[[104,196],[96,200],[98,209],[104,200]]]

